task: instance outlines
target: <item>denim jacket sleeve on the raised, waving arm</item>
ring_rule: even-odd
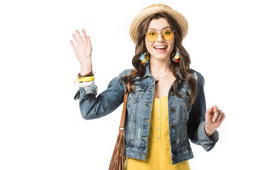
[[[77,90],[74,100],[79,99],[81,116],[85,120],[97,119],[108,115],[118,108],[124,100],[125,86],[120,78],[124,71],[114,77],[108,84],[108,88],[97,97],[97,85],[81,87]]]

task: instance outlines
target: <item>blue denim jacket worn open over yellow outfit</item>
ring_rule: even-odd
[[[148,133],[152,104],[154,100],[155,80],[149,70],[149,62],[145,65],[143,77],[134,79],[135,93],[128,94],[127,109],[125,113],[125,156],[145,160],[148,152]],[[191,89],[183,81],[178,67],[177,83],[179,98],[173,92],[173,83],[168,93],[169,138],[171,146],[172,164],[194,158],[190,147],[192,143],[201,145],[207,152],[212,150],[218,142],[218,131],[211,136],[205,132],[206,101],[204,96],[204,77],[191,69],[197,79],[198,92],[193,105],[189,105]],[[125,85],[120,85],[119,78],[131,74],[131,69],[125,69],[119,76],[114,77],[108,88],[97,97],[97,86],[79,88],[74,100],[79,100],[81,116],[85,120],[98,119],[106,116],[118,108],[124,100]]]

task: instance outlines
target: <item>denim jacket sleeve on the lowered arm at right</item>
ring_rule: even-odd
[[[204,77],[198,86],[198,92],[187,121],[187,132],[192,143],[201,145],[207,152],[212,150],[218,142],[218,131],[215,130],[211,136],[205,132],[206,101],[204,95]]]

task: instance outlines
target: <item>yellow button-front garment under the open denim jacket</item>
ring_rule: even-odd
[[[191,170],[189,160],[172,165],[169,141],[168,96],[154,97],[146,159],[127,157],[125,170]]]

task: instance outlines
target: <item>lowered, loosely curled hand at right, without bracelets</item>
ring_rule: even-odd
[[[212,129],[217,129],[225,119],[225,113],[222,112],[216,105],[208,108],[205,113],[205,122]]]

